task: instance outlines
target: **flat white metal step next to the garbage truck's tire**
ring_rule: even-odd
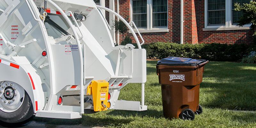
[[[61,119],[76,119],[81,118],[79,112],[71,111],[56,111],[56,110],[40,110],[36,112],[37,117],[47,117],[47,118],[61,118]]]

